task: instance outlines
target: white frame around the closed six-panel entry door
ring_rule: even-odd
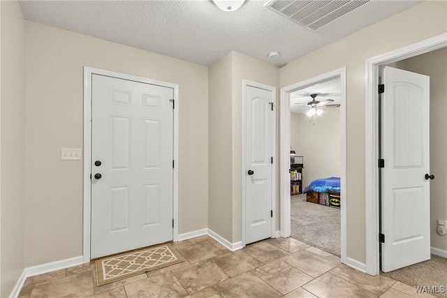
[[[178,174],[179,174],[179,86],[178,84],[161,82],[156,80],[149,80],[144,77],[135,77],[133,75],[126,75],[123,73],[115,73],[109,70],[102,70],[98,68],[91,68],[84,66],[84,227],[83,227],[83,245],[82,255],[84,263],[90,262],[90,233],[91,233],[91,75],[106,75],[108,77],[117,77],[119,79],[131,80],[134,82],[142,82],[146,84],[156,84],[163,87],[174,89],[174,140],[173,140],[173,158],[175,161],[173,173],[173,241],[178,238]]]

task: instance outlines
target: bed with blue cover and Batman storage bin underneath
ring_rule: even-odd
[[[339,208],[340,202],[340,178],[328,177],[313,180],[303,193],[306,201]]]

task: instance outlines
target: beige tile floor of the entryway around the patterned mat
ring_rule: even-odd
[[[99,287],[91,262],[27,278],[20,297],[432,297],[292,238],[234,253],[208,236],[173,246],[185,262]]]

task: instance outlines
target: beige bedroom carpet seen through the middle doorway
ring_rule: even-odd
[[[340,209],[291,196],[291,237],[340,256]]]

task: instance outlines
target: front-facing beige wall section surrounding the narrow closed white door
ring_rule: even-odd
[[[242,80],[250,80],[277,88],[279,102],[279,68],[247,55],[233,52],[233,107],[232,107],[232,150],[233,150],[233,243],[242,240]],[[277,113],[277,135],[279,135],[279,109]],[[279,142],[277,144],[279,148]],[[279,149],[274,156],[279,167]],[[279,175],[277,171],[277,181]],[[277,184],[277,223],[279,230],[279,183]]]

